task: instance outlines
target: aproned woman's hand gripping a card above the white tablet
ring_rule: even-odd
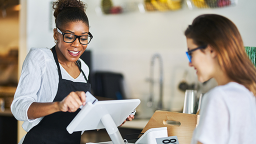
[[[58,103],[60,111],[75,112],[81,105],[85,105],[85,92],[72,91]]]

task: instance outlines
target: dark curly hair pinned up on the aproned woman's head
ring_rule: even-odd
[[[89,26],[85,13],[87,4],[80,0],[58,0],[52,3],[56,27],[62,27],[69,22],[82,21]]]

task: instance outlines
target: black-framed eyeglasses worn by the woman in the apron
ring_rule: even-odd
[[[90,42],[90,40],[93,37],[90,32],[88,33],[88,35],[75,35],[72,33],[64,33],[60,31],[58,28],[57,28],[57,31],[63,35],[63,41],[65,41],[66,43],[72,43],[76,38],[78,38],[79,42],[82,45],[86,45]]]

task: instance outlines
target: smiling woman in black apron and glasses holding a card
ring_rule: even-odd
[[[19,143],[80,143],[81,132],[69,134],[66,126],[85,104],[84,92],[90,91],[89,68],[79,57],[92,35],[80,0],[58,0],[53,8],[56,45],[31,48],[11,104],[27,131]]]

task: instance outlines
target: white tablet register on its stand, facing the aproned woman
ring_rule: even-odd
[[[118,125],[130,115],[140,103],[139,99],[101,100],[87,102],[67,125],[69,133],[74,131],[105,128],[113,144],[124,144]]]

